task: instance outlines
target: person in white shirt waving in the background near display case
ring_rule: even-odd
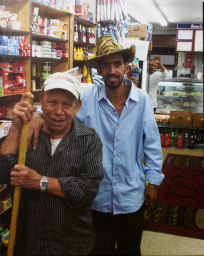
[[[156,72],[158,67],[160,68],[161,72]],[[156,112],[157,108],[156,89],[158,87],[158,83],[166,77],[167,71],[162,65],[161,56],[154,54],[154,59],[150,60],[150,85],[148,91],[148,95],[150,96],[154,108],[154,113]]]

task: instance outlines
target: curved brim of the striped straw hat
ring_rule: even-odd
[[[87,60],[87,65],[89,65],[90,67],[93,67],[94,69],[97,69],[99,60],[101,60],[102,58],[105,58],[109,55],[112,56],[115,54],[125,55],[125,58],[127,58],[127,62],[131,63],[134,60],[134,58],[136,57],[136,46],[134,44],[132,44],[132,46],[130,46],[129,48],[125,48],[123,50],[118,50],[117,52],[111,52],[109,54],[104,54],[101,56],[96,56],[95,58],[91,58],[90,60]]]

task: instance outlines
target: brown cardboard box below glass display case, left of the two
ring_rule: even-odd
[[[170,126],[192,126],[192,111],[170,111]]]

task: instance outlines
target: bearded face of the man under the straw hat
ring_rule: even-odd
[[[123,76],[128,73],[129,65],[124,64],[121,54],[113,54],[101,60],[97,71],[99,75],[102,75],[106,87],[117,89],[123,83]]]

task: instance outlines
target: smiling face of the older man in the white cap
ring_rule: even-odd
[[[81,103],[77,108],[76,103],[77,98],[69,91],[63,89],[44,91],[41,105],[46,127],[50,130],[50,138],[62,138],[70,130],[72,120],[81,108]]]

